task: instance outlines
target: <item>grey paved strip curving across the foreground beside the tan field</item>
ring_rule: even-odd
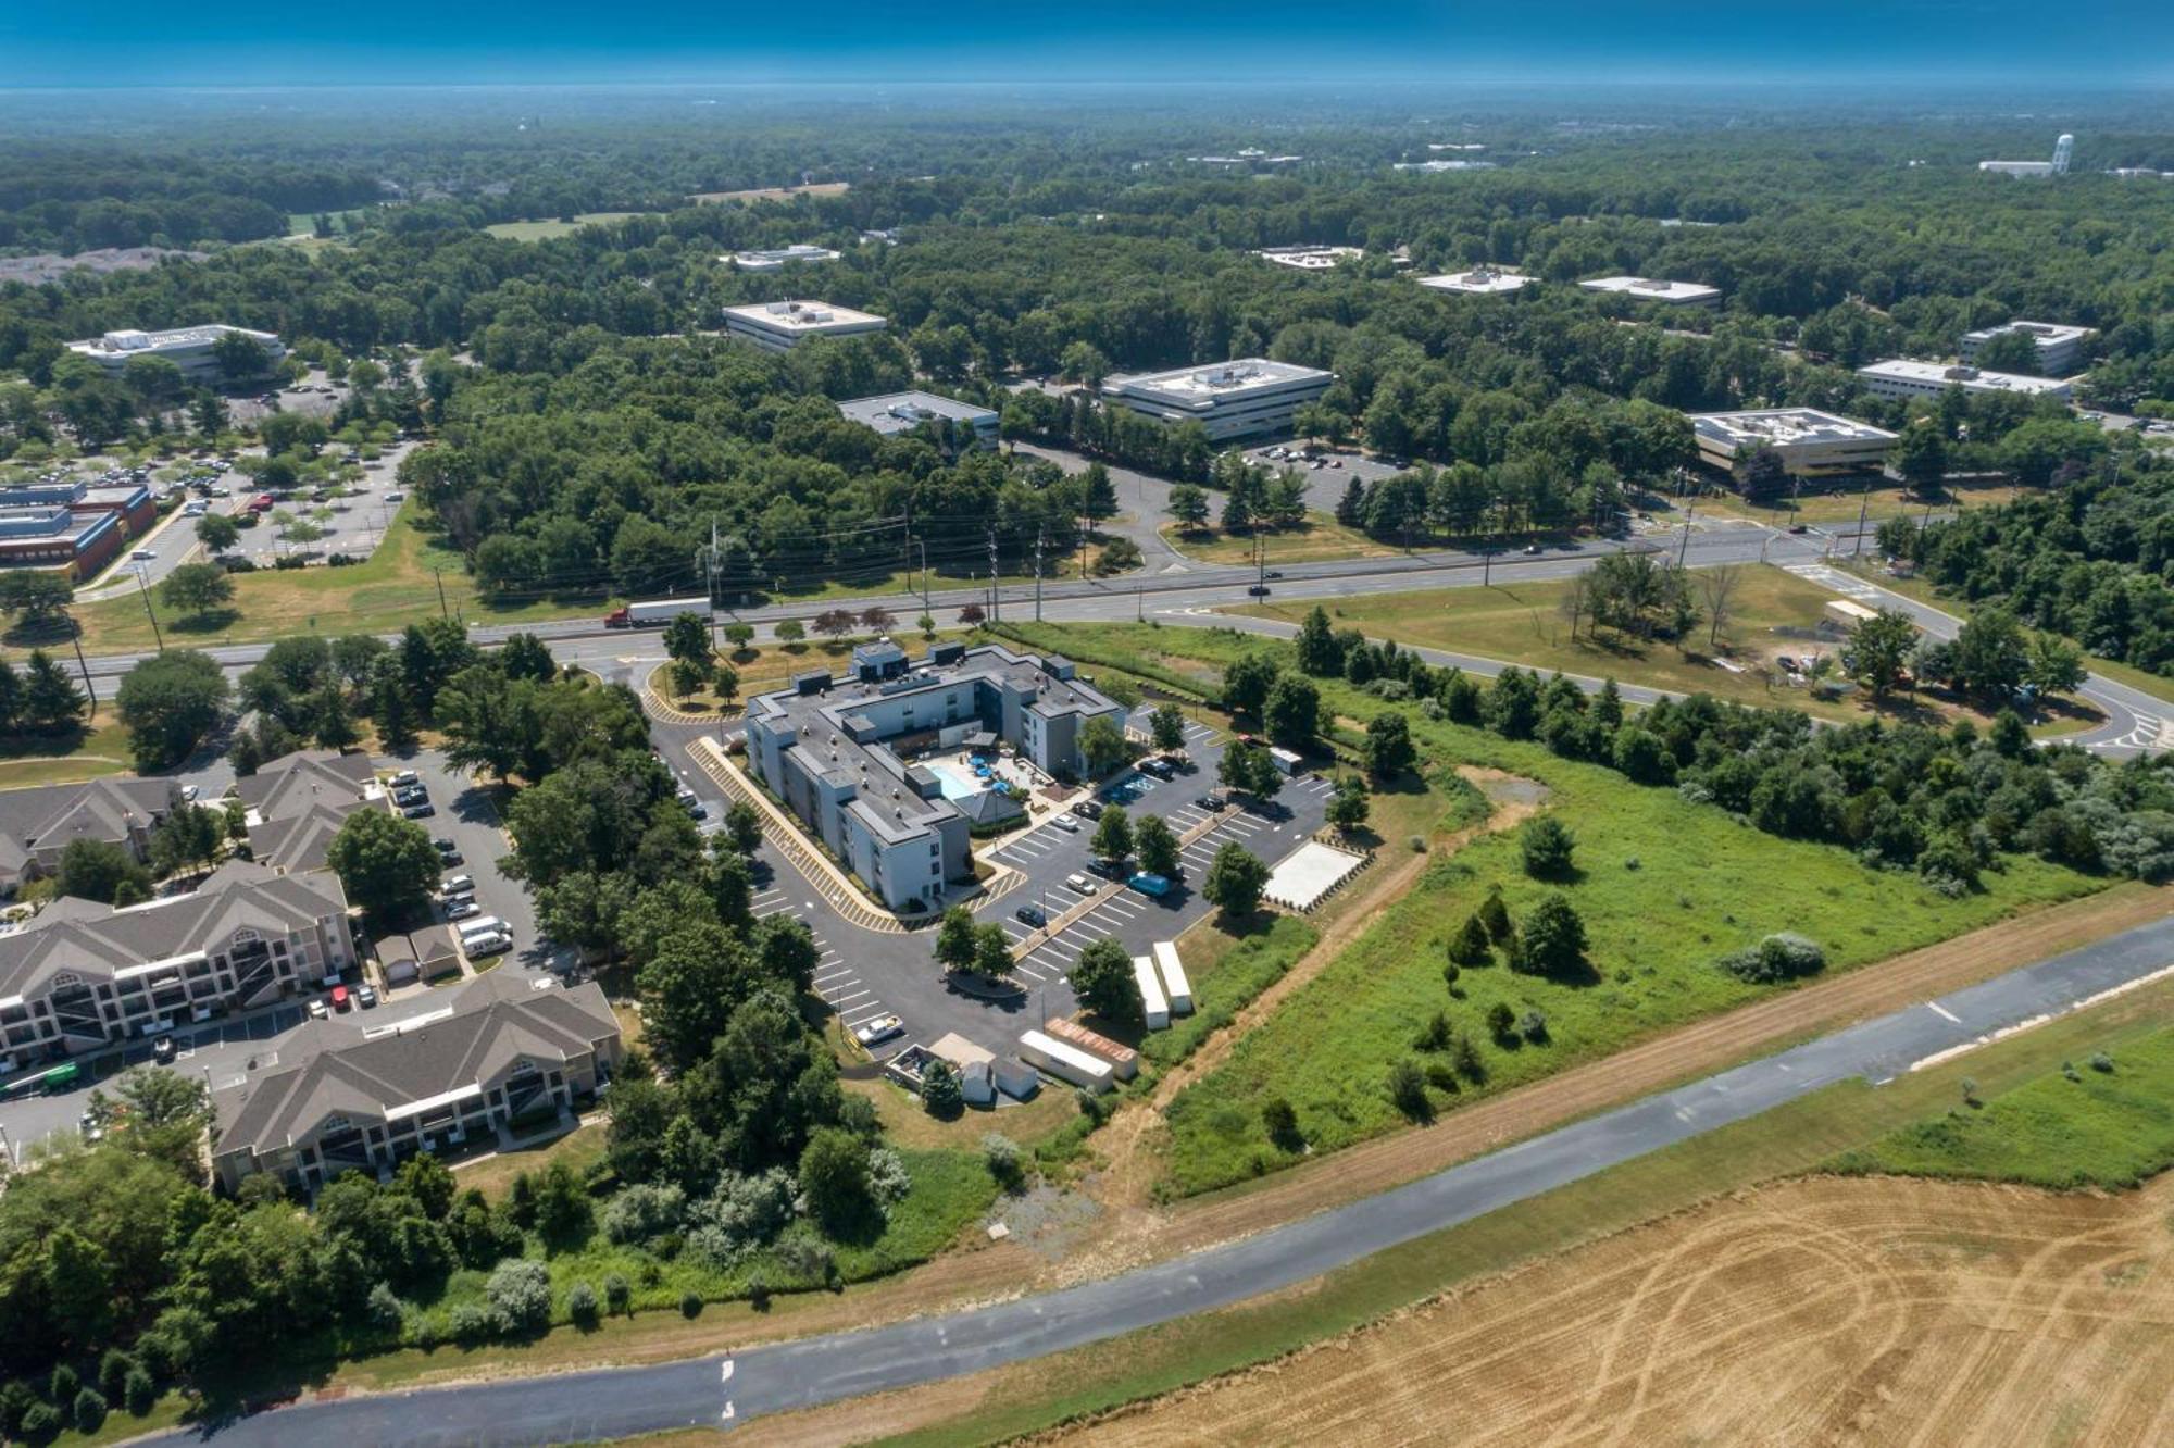
[[[730,1428],[1078,1348],[1309,1281],[1646,1152],[2052,1015],[2170,970],[2174,920],[1913,1004],[1781,1054],[1550,1131],[1348,1207],[1122,1276],[994,1307],[654,1368],[339,1398],[154,1441],[557,1444],[678,1426]]]

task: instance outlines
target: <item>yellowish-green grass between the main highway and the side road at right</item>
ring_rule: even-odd
[[[1561,578],[1485,589],[1380,594],[1326,602],[1324,607],[1337,628],[1359,628],[1398,644],[1502,659],[1541,672],[1613,676],[1620,683],[1674,689],[1676,694],[1711,694],[1739,704],[1802,709],[1822,720],[1887,717],[1935,726],[1946,726],[1957,717],[1970,717],[1978,726],[1989,722],[1976,709],[1931,691],[1915,700],[1898,696],[1874,709],[1870,698],[1815,700],[1809,689],[1776,683],[1781,678],[1774,667],[1776,654],[1835,652],[1835,644],[1781,635],[1776,628],[1809,631],[1817,626],[1826,604],[1837,594],[1772,563],[1746,565],[1739,578],[1731,620],[1720,633],[1720,648],[1709,646],[1704,624],[1681,648],[1667,641],[1641,644],[1620,635],[1604,635],[1596,641],[1589,631],[1570,637],[1570,620],[1561,611],[1570,583]],[[1246,604],[1230,611],[1298,624],[1313,611],[1313,602]],[[1737,663],[1744,672],[1731,672],[1715,659]],[[2054,715],[2037,733],[2070,733],[2098,722],[2096,711],[2072,709]]]

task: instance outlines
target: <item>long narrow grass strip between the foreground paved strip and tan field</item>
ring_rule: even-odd
[[[1850,1081],[1813,1091],[1748,1122],[1376,1252],[1304,1287],[983,1374],[978,1391],[950,1396],[970,1405],[959,1415],[883,1441],[928,1448],[1011,1441],[1276,1359],[1522,1261],[1717,1194],[1815,1170],[1852,1146],[1941,1109],[1957,1098],[1963,1076],[2000,1091],[2054,1068],[2063,1057],[2081,1061],[2098,1044],[2124,1059],[2135,1052],[2137,1037],[2163,1031],[2170,1007],[2174,987],[2148,987],[1957,1061],[1898,1076],[1885,1087]],[[911,1398],[900,1402],[900,1409],[907,1407]]]

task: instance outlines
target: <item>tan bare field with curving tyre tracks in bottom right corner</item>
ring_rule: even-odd
[[[1059,1441],[2163,1444],[2170,1207],[1787,1183]]]

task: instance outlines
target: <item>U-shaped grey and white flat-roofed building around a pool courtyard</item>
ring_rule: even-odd
[[[1009,744],[1041,774],[1076,778],[1087,722],[1124,726],[1124,709],[1057,657],[944,644],[913,665],[876,641],[852,665],[748,702],[748,772],[894,911],[974,885],[970,802],[985,794],[957,765],[911,754]]]

